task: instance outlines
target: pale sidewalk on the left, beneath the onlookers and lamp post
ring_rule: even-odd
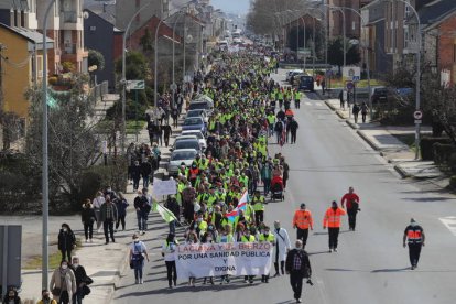
[[[183,113],[185,115],[185,113]],[[183,115],[181,117],[183,117]],[[177,129],[173,128],[173,134],[170,138],[170,146],[174,143],[174,139],[180,134],[181,127]],[[129,134],[127,142],[135,142],[135,134]],[[149,133],[146,129],[142,129],[139,137],[138,143],[150,143]],[[160,146],[162,152],[162,161],[160,169],[155,172],[155,177],[163,177],[167,174],[165,164],[167,162],[170,150],[166,146]],[[150,189],[152,186],[149,187]],[[62,222],[68,222],[76,235],[76,239],[82,240],[82,247],[74,252],[74,256],[79,257],[80,264],[86,269],[87,275],[94,280],[94,284],[90,285],[91,293],[84,298],[85,304],[108,304],[111,303],[115,285],[119,281],[122,273],[128,268],[128,254],[129,248],[127,245],[131,243],[131,236],[137,231],[137,216],[133,208],[133,200],[137,196],[133,193],[133,186],[127,185],[126,198],[130,206],[128,207],[128,214],[126,218],[126,230],[121,229],[115,234],[116,242],[105,245],[105,236],[102,232],[97,232],[94,229],[94,242],[84,242],[84,230],[80,224],[80,216],[67,216],[67,217],[51,217],[50,218],[50,253],[57,251],[56,239],[57,232]],[[14,217],[9,219],[0,220],[7,221],[8,224],[22,225],[22,267],[25,265],[25,261],[30,259],[30,254],[39,256],[41,253],[41,217]],[[149,221],[153,221],[153,216],[150,217]],[[149,236],[148,236],[149,237]],[[48,280],[51,280],[52,272],[54,269],[50,269]],[[22,301],[32,300],[36,303],[41,298],[42,285],[42,272],[41,269],[35,270],[22,270],[22,289],[20,296]]]

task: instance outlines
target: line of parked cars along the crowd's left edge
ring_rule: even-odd
[[[170,148],[170,176],[177,175],[182,163],[189,166],[196,155],[206,150],[207,123],[213,111],[214,101],[205,95],[199,95],[191,101],[182,124],[182,133]]]

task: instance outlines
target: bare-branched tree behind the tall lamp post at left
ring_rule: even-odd
[[[65,94],[52,95],[56,100],[48,111],[48,163],[50,197],[53,200],[63,194],[68,203],[78,199],[78,181],[94,164],[100,145],[94,130],[95,100],[86,93],[88,79],[76,76],[73,89]],[[31,123],[26,133],[26,154],[39,169],[42,164],[42,96],[41,88],[31,88]]]

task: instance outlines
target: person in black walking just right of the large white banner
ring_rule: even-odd
[[[311,280],[312,268],[301,240],[296,240],[295,248],[286,254],[286,273],[290,274],[290,284],[296,303],[302,303],[303,280],[304,278]]]

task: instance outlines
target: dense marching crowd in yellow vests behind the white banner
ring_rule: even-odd
[[[268,142],[275,133],[278,143],[295,143],[297,122],[290,104],[295,100],[298,105],[300,95],[275,85],[270,77],[273,61],[247,53],[221,56],[222,64],[213,65],[205,77],[195,82],[195,89],[215,102],[207,149],[196,155],[189,167],[181,165],[175,177],[177,194],[169,196],[164,204],[176,218],[170,222],[162,250],[170,289],[177,280],[174,250],[178,240],[271,242],[275,247],[274,276],[285,273],[285,257],[291,249],[286,230],[265,214],[268,197],[275,192],[283,195],[290,171],[281,153],[270,155]],[[176,225],[185,228],[183,235],[176,235]],[[195,279],[191,278],[188,284],[194,286]],[[197,279],[203,284],[216,283],[215,278]],[[253,283],[253,276],[243,279]],[[230,282],[229,275],[218,280],[219,284]],[[137,282],[141,283],[140,276]],[[268,283],[269,275],[262,275],[261,282]]]

